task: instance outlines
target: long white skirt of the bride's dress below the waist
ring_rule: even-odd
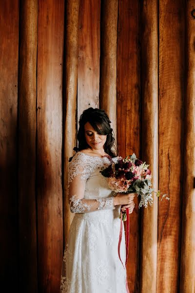
[[[76,213],[65,246],[60,293],[126,293],[126,269],[118,257],[120,206]],[[125,267],[122,223],[120,257]]]

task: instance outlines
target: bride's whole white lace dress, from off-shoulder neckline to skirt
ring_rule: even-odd
[[[126,293],[126,269],[117,250],[120,206],[113,205],[114,192],[99,172],[108,165],[107,157],[82,152],[69,164],[69,203],[75,216],[64,250],[60,293]],[[120,256],[125,264],[122,229]]]

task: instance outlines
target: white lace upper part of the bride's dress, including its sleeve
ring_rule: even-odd
[[[116,158],[113,158],[115,162]],[[99,172],[108,167],[107,157],[92,157],[77,152],[69,163],[68,195],[71,212],[83,213],[99,209],[115,209],[114,193]]]

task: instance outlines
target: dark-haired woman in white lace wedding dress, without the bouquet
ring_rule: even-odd
[[[64,251],[60,293],[127,292],[126,270],[117,251],[118,215],[126,208],[132,213],[136,193],[114,193],[99,172],[118,158],[110,123],[104,110],[97,108],[80,116],[78,152],[69,160],[68,174],[70,210],[75,216]],[[120,257],[124,264],[124,226]]]

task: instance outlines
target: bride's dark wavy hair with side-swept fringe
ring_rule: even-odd
[[[89,122],[91,126],[99,134],[106,135],[106,142],[104,144],[105,152],[112,158],[117,156],[117,145],[113,134],[113,128],[111,128],[111,121],[108,118],[106,112],[98,108],[88,108],[82,112],[79,119],[79,129],[77,134],[78,147],[74,147],[74,150],[79,151],[86,148],[91,148],[85,139],[85,124]],[[73,157],[69,159],[69,162]]]

